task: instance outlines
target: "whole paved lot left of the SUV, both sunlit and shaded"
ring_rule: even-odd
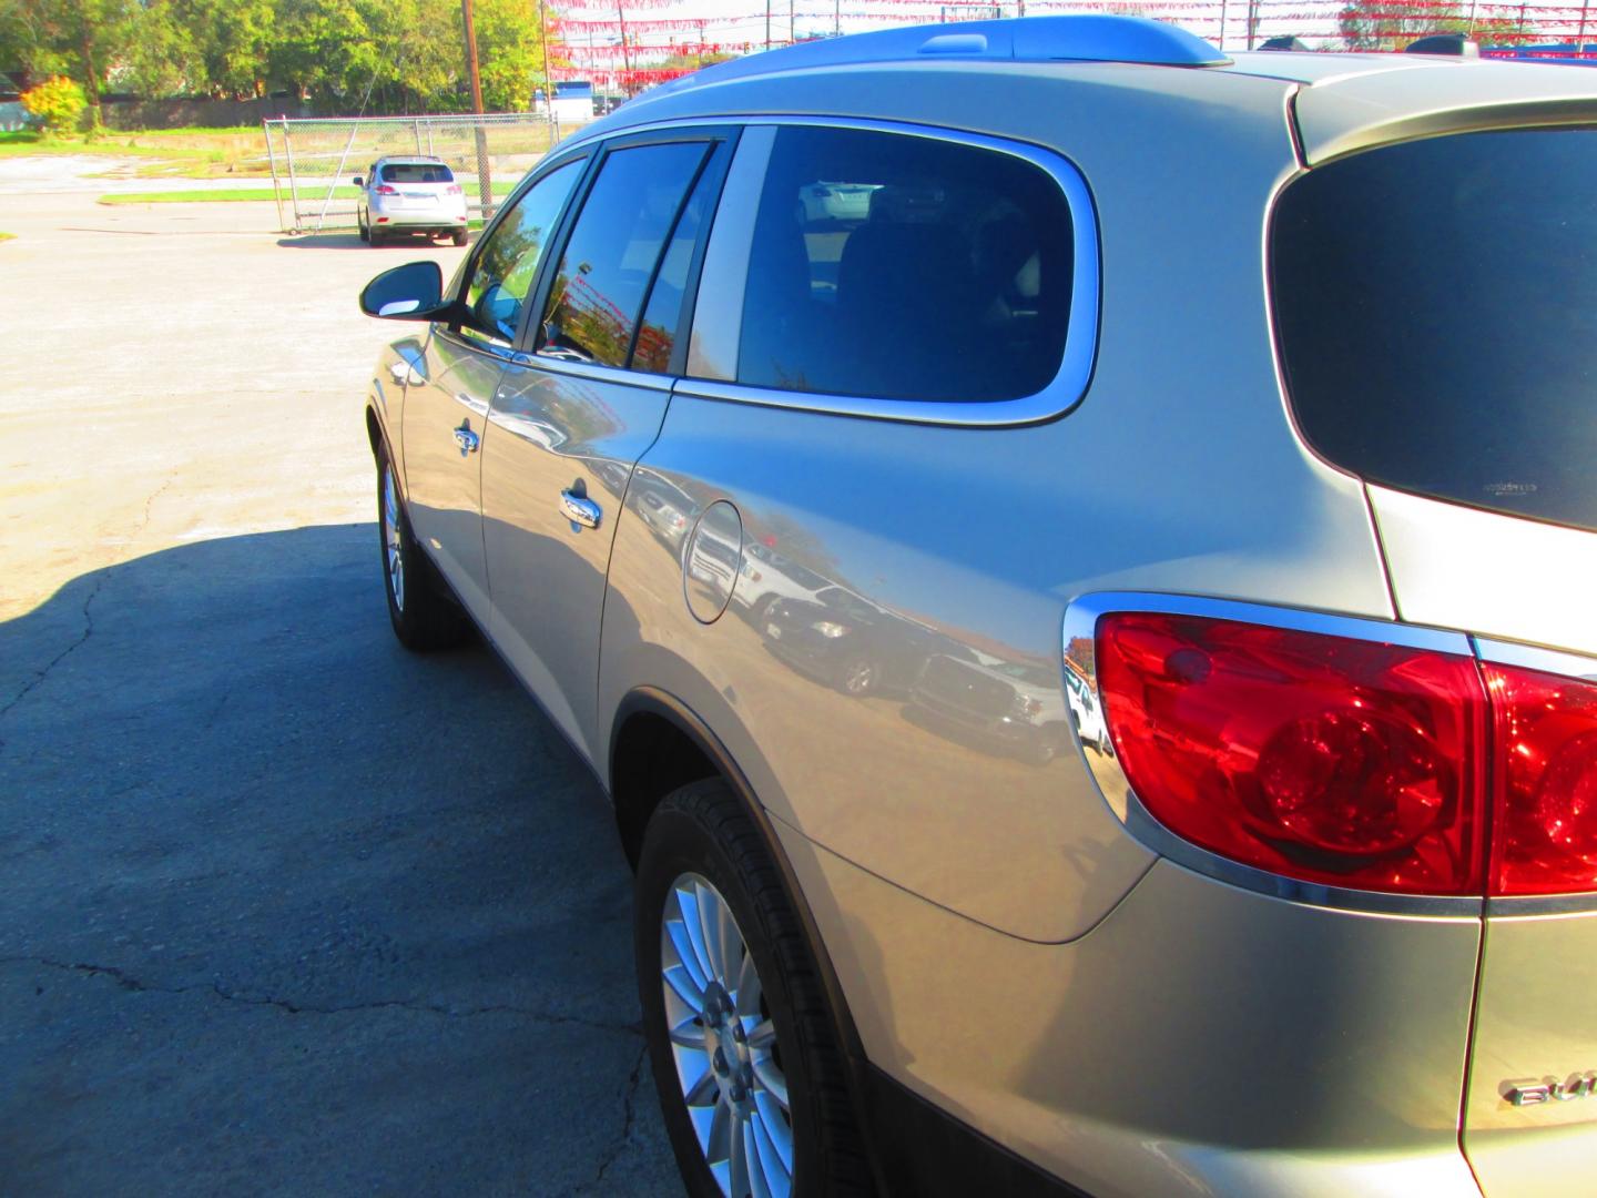
[[[605,800],[393,641],[378,268],[0,161],[0,1192],[680,1193]]]

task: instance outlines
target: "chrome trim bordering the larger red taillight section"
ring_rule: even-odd
[[[1308,612],[1292,607],[1270,607],[1265,604],[1238,602],[1231,599],[1209,599],[1199,596],[1148,594],[1139,591],[1099,591],[1083,594],[1065,609],[1062,652],[1065,669],[1084,679],[1092,687],[1092,696],[1104,711],[1104,692],[1092,669],[1092,658],[1073,655],[1073,642],[1097,644],[1099,617],[1110,612],[1148,612],[1163,615],[1195,615],[1211,620],[1238,620],[1250,625],[1270,628],[1286,628],[1298,633],[1319,633],[1322,636],[1343,636],[1354,641],[1373,641],[1405,649],[1425,649],[1437,653],[1453,653],[1456,657],[1474,657],[1474,649],[1464,633],[1453,633],[1440,628],[1421,628],[1417,625],[1401,625],[1389,620],[1372,620],[1365,617],[1333,615],[1330,612]],[[1450,915],[1460,918],[1479,918],[1485,914],[1487,899],[1479,895],[1391,895],[1378,890],[1351,890],[1345,887],[1329,887],[1318,882],[1300,882],[1281,877],[1254,866],[1244,866],[1219,853],[1185,840],[1161,824],[1137,794],[1131,789],[1119,765],[1118,756],[1102,754],[1096,748],[1088,748],[1076,736],[1076,751],[1097,783],[1104,802],[1115,818],[1126,826],[1137,840],[1177,866],[1190,869],[1217,882],[1252,890],[1270,898],[1290,902],[1306,902],[1318,907],[1335,907],[1338,910],[1367,912],[1372,915]],[[1503,902],[1498,899],[1496,902]],[[1503,912],[1500,912],[1503,914]]]

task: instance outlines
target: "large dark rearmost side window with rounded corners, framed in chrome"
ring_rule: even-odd
[[[864,129],[776,134],[738,382],[890,399],[1041,391],[1070,316],[1059,185],[997,150]]]

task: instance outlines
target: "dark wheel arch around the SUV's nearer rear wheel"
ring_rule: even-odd
[[[832,1030],[843,1049],[850,1099],[875,1171],[883,1156],[875,1152],[878,1133],[872,1118],[870,1065],[848,1010],[848,998],[838,982],[837,971],[832,968],[832,957],[821,939],[814,914],[798,888],[798,879],[787,861],[787,853],[783,851],[770,813],[760,803],[747,775],[727,751],[727,746],[676,695],[656,687],[636,687],[616,704],[610,735],[608,789],[615,803],[616,831],[634,871],[637,869],[644,829],[660,800],[679,786],[714,776],[727,781],[749,813],[771,861],[776,863],[787,901],[792,902],[794,912],[798,915],[798,925],[826,990]],[[883,1177],[877,1177],[878,1190],[888,1193],[890,1188],[883,1185]]]

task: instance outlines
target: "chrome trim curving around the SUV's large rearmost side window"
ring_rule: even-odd
[[[727,125],[741,125],[754,129],[762,126],[822,126],[837,129],[862,129],[867,133],[890,133],[931,141],[969,145],[981,150],[1006,153],[1020,158],[1044,171],[1064,193],[1065,206],[1070,211],[1072,240],[1075,243],[1075,264],[1072,267],[1070,319],[1065,327],[1065,350],[1059,363],[1059,371],[1052,382],[1041,391],[1017,399],[992,401],[929,401],[929,399],[877,399],[870,396],[822,395],[814,391],[783,391],[767,387],[749,387],[735,382],[684,379],[677,383],[677,393],[698,399],[719,399],[730,403],[759,404],[765,407],[794,407],[805,412],[827,412],[834,415],[870,417],[877,420],[899,420],[926,425],[961,425],[961,426],[1006,426],[1028,425],[1052,420],[1073,411],[1088,393],[1092,382],[1092,371],[1097,363],[1099,313],[1102,307],[1100,294],[1100,248],[1097,209],[1092,204],[1092,193],[1088,188],[1081,171],[1064,155],[981,133],[963,129],[947,129],[942,126],[910,125],[888,120],[854,120],[846,117],[731,117],[707,115],[693,121],[663,121],[658,126],[637,126],[628,133],[639,133],[650,128],[669,128],[684,123],[699,123],[715,120]],[[749,142],[759,145],[757,141]],[[744,147],[738,147],[738,158]],[[738,158],[733,160],[731,171],[738,171]],[[760,180],[763,184],[763,179]],[[728,188],[731,177],[728,176]],[[725,195],[722,196],[725,203]],[[752,227],[749,230],[752,236]],[[712,262],[722,268],[730,268],[731,262],[741,260],[746,267],[751,246],[733,246],[739,252],[717,252],[717,236],[722,225],[717,219],[711,232],[706,251],[704,272],[699,280],[699,305],[714,303],[712,296],[730,288],[728,280],[717,283],[711,275]],[[712,257],[714,256],[714,257]],[[738,294],[743,294],[741,284]],[[695,327],[698,324],[695,311]],[[738,313],[741,323],[741,311]],[[730,340],[730,339],[728,339]],[[692,339],[690,339],[692,345]],[[720,348],[720,347],[717,347]],[[733,358],[733,363],[736,359]],[[735,367],[733,367],[735,369]]]

